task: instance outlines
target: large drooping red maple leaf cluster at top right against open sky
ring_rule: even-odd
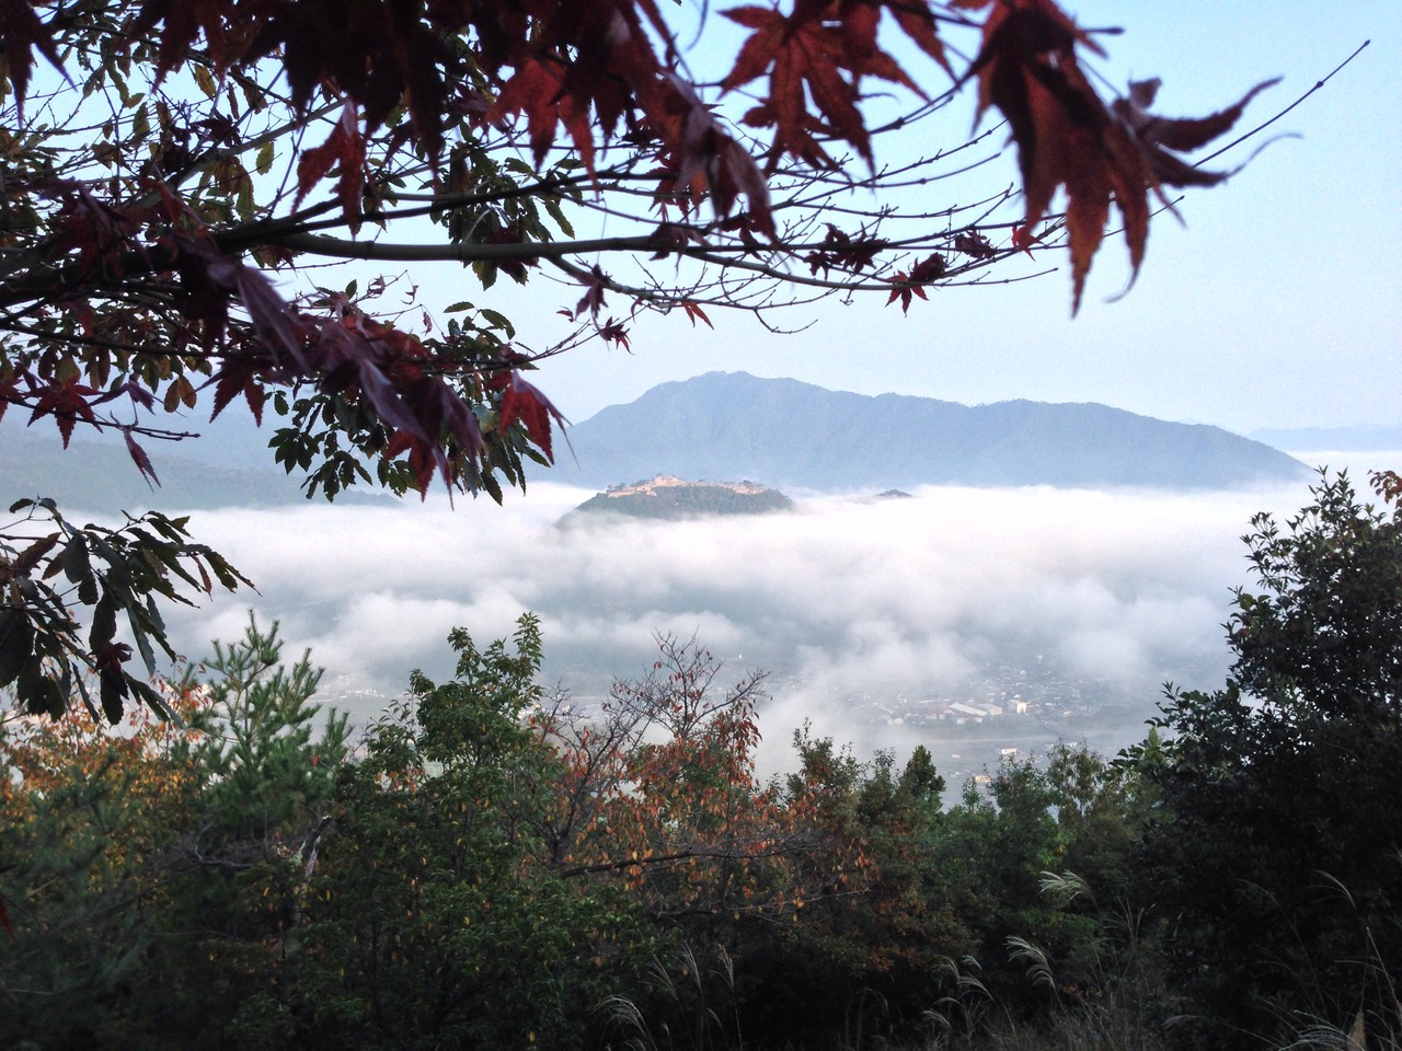
[[[1169,150],[1193,150],[1227,132],[1242,108],[1265,87],[1200,121],[1150,116],[1158,81],[1131,85],[1130,97],[1106,105],[1091,87],[1077,48],[1103,55],[1053,0],[958,0],[959,7],[993,4],[983,27],[983,48],[969,70],[979,77],[979,114],[995,105],[1018,143],[1026,209],[1015,247],[1028,248],[1032,230],[1066,188],[1066,227],[1071,249],[1073,312],[1081,304],[1085,276],[1105,237],[1110,202],[1124,227],[1130,266],[1144,259],[1151,213],[1150,193],[1169,205],[1162,186],[1210,186],[1223,172],[1195,168]]]

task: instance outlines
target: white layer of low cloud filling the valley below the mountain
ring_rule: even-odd
[[[202,511],[199,540],[259,587],[179,618],[192,657],[279,621],[328,681],[400,692],[409,670],[450,675],[454,626],[479,643],[534,611],[545,674],[582,696],[641,674],[653,633],[695,636],[739,668],[773,673],[770,741],[810,717],[847,719],[861,695],[956,695],[1000,664],[1056,667],[1141,692],[1211,687],[1221,624],[1248,583],[1239,537],[1300,489],[1175,495],[921,489],[914,499],[805,500],[791,514],[683,523],[558,518],[590,493],[533,485],[485,500]],[[356,717],[373,715],[356,710]]]

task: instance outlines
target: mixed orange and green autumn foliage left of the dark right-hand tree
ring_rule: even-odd
[[[181,726],[0,724],[0,1038],[590,1047],[629,1038],[610,1003],[686,1027],[723,994],[708,1041],[817,1045],[864,985],[937,995],[990,922],[938,895],[1049,849],[959,860],[997,817],[942,816],[928,754],[897,775],[801,734],[799,772],[757,778],[763,680],[694,642],[592,712],[537,682],[531,617],[450,642],[453,680],[415,674],[353,750],[252,622],[163,684]]]

